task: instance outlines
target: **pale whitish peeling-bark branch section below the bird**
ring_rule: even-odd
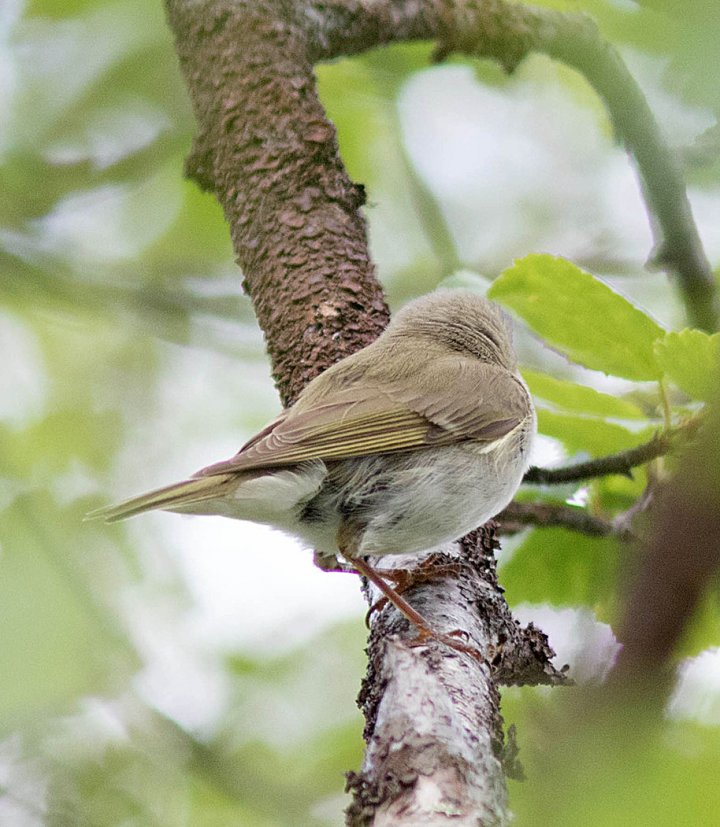
[[[425,560],[425,584],[405,593],[438,631],[462,629],[482,660],[408,647],[415,633],[395,610],[376,619],[359,699],[367,750],[361,772],[348,775],[353,827],[506,822],[504,779],[522,771],[505,744],[498,689],[567,679],[551,665],[545,635],[513,618],[495,573],[497,545],[491,522],[460,549]]]

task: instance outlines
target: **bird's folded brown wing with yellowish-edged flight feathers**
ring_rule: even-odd
[[[507,370],[454,356],[421,374],[342,388],[281,414],[230,460],[197,476],[409,451],[462,440],[492,442],[527,416],[529,400]]]

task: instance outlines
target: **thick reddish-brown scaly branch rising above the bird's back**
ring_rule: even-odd
[[[364,191],[339,158],[289,8],[167,0],[199,129],[188,172],[223,206],[285,403],[388,320]]]

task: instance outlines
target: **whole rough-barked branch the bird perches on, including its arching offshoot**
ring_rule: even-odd
[[[632,78],[586,18],[501,0],[166,5],[198,120],[187,169],[224,208],[286,404],[312,377],[376,338],[387,322],[359,212],[364,192],[344,170],[312,73],[317,60],[382,43],[434,39],[439,55],[452,50],[492,57],[508,70],[540,50],[583,71],[637,159],[660,228],[657,258],[677,272],[693,321],[714,323],[713,283],[677,165]],[[492,536],[477,536],[483,551],[476,548],[472,564],[463,558],[462,579],[439,574],[413,589],[412,598],[439,631],[447,618],[467,630],[486,664],[434,641],[422,648],[396,642],[395,634],[402,640],[414,632],[392,607],[373,622],[362,696],[370,742],[362,773],[351,781],[353,824],[371,818],[374,824],[417,824],[421,815],[451,807],[460,808],[452,811],[454,824],[502,823],[507,812],[496,685],[566,682],[550,664],[544,636],[512,621],[489,563]],[[464,555],[472,560],[468,543]],[[424,716],[422,729],[398,705],[421,694],[428,703],[412,708]],[[401,735],[407,741],[399,741]],[[408,748],[396,749],[400,744]]]

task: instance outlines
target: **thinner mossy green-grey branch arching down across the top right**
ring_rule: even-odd
[[[315,5],[300,4],[306,13]],[[692,325],[718,327],[715,280],[685,190],[680,159],[618,52],[586,15],[505,0],[334,0],[313,19],[313,59],[405,40],[435,40],[450,52],[492,58],[511,72],[536,51],[581,72],[605,104],[635,159],[655,233],[652,261],[676,276]]]

